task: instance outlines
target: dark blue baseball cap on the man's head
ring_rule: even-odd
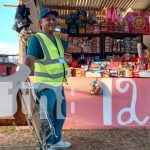
[[[55,11],[55,10],[52,10],[52,9],[48,9],[48,8],[44,8],[40,11],[40,14],[39,14],[39,19],[43,19],[46,15],[48,14],[52,14],[54,15],[55,17],[58,17],[58,12]]]

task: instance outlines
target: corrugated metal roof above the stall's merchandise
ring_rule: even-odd
[[[66,16],[68,10],[84,9],[101,11],[104,7],[114,5],[125,11],[128,8],[144,11],[150,7],[150,0],[35,0],[36,6],[57,9],[61,16]]]

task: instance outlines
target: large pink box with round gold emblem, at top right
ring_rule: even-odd
[[[148,13],[129,12],[126,16],[129,33],[150,34],[150,22]]]

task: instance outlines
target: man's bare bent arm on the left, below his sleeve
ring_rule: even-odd
[[[30,69],[31,69],[30,76],[34,75],[34,62],[35,62],[35,57],[34,56],[31,56],[31,55],[26,56],[26,58],[25,58],[25,64],[28,67],[30,67]]]

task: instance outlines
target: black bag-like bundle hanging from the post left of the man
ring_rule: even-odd
[[[28,18],[29,15],[29,8],[26,8],[25,5],[18,5],[13,30],[20,33],[22,29],[28,28],[32,23],[31,20]]]

